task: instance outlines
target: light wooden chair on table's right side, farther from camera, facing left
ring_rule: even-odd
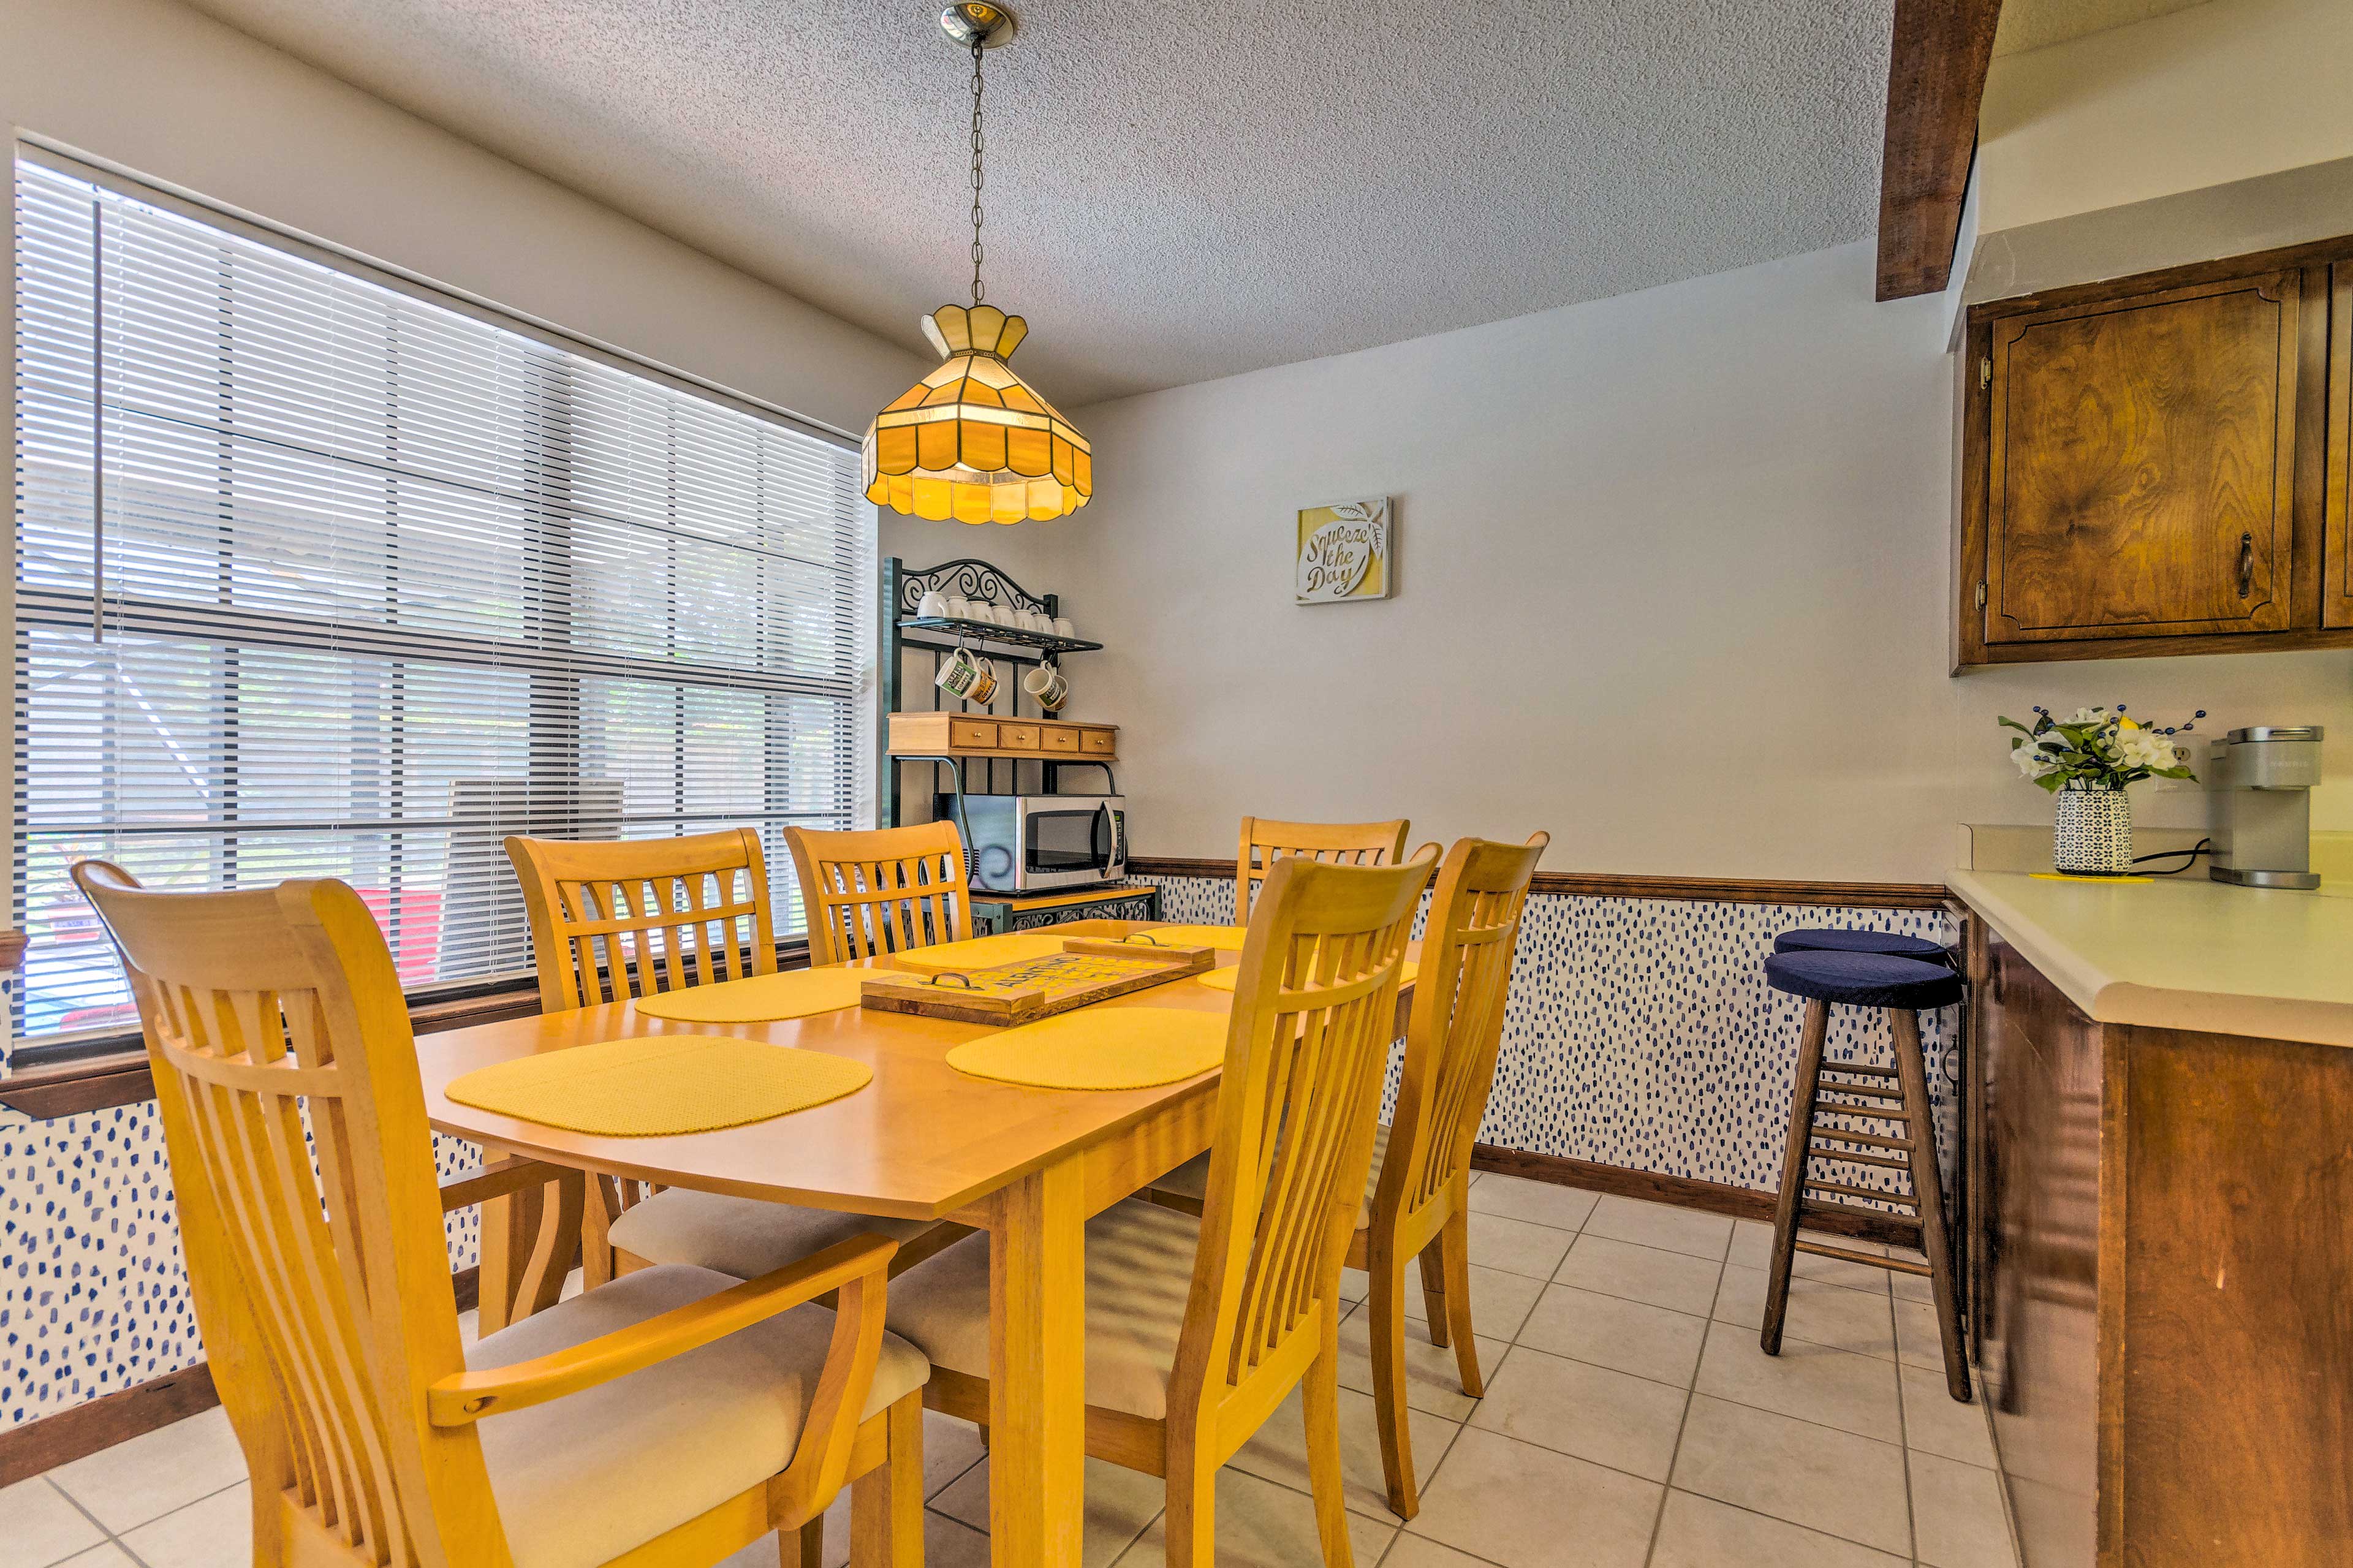
[[[1414,1017],[1405,1034],[1398,1118],[1374,1130],[1372,1175],[1348,1241],[1348,1267],[1372,1276],[1372,1396],[1388,1507],[1400,1519],[1421,1511],[1405,1424],[1405,1264],[1414,1257],[1421,1260],[1431,1344],[1445,1349],[1452,1342],[1464,1394],[1485,1394],[1471,1337],[1471,1144],[1494,1088],[1527,885],[1551,841],[1551,833],[1537,833],[1525,845],[1459,838],[1438,866],[1414,975]],[[1200,1161],[1153,1184],[1158,1203],[1188,1212],[1200,1212],[1205,1196],[1207,1170]]]

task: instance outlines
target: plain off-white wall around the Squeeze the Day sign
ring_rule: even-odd
[[[1551,829],[1551,869],[1927,881],[1955,822],[2047,822],[1993,727],[2033,702],[2320,720],[2353,775],[2353,655],[1948,678],[1944,304],[1871,278],[1849,245],[1078,410],[1054,586],[1111,650],[1071,713],[1125,725],[1139,850],[1409,815]],[[1292,605],[1292,509],[1372,492],[1398,598]]]

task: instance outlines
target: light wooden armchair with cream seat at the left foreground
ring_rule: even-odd
[[[464,1351],[416,1041],[360,895],[73,878],[139,1001],[254,1563],[654,1568],[769,1530],[807,1561],[849,1479],[856,1561],[922,1563],[927,1368],[882,1330],[889,1241],[751,1283],[645,1269]],[[826,1290],[840,1311],[807,1304]]]

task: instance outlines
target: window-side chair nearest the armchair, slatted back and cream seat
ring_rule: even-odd
[[[522,881],[546,1012],[776,972],[767,859],[751,829],[692,838],[508,838],[506,855]],[[892,1260],[899,1271],[965,1234],[929,1220],[656,1189],[614,1175],[598,1175],[595,1189],[581,1227],[591,1285],[645,1264],[758,1278],[845,1236],[901,1243]]]

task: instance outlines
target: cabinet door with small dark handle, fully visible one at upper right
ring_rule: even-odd
[[[2282,631],[2297,273],[1993,330],[1986,640]]]

